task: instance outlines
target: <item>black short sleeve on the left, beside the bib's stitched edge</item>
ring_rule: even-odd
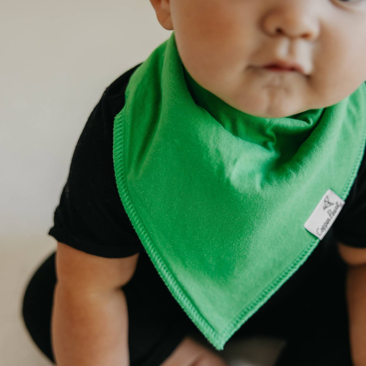
[[[124,90],[137,66],[116,79],[91,112],[48,232],[100,257],[128,257],[143,250],[119,197],[113,166],[114,117],[123,108]]]

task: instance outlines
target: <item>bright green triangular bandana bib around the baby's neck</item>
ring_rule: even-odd
[[[365,89],[290,117],[248,115],[190,77],[174,31],[131,75],[113,130],[119,195],[165,285],[217,350],[343,207],[365,150]]]

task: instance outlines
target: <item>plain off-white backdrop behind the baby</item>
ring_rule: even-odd
[[[0,365],[50,365],[23,324],[22,295],[56,249],[47,233],[72,153],[105,88],[170,34],[149,0],[2,1]],[[251,365],[272,358],[268,345],[246,350],[262,360]]]

